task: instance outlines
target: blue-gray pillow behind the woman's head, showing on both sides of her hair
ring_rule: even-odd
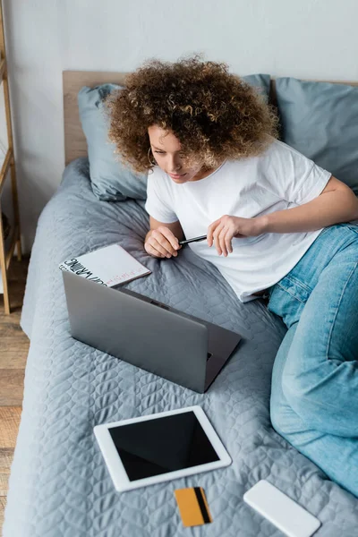
[[[251,74],[243,77],[268,99],[269,75]],[[89,160],[90,181],[93,193],[99,200],[124,201],[127,198],[145,200],[147,198],[147,174],[138,174],[124,166],[115,145],[107,139],[108,117],[103,101],[107,95],[120,86],[103,84],[96,88],[81,88],[78,104],[83,132],[86,136]]]

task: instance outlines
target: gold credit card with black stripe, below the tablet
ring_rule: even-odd
[[[205,492],[201,487],[177,489],[175,499],[185,527],[212,522]]]

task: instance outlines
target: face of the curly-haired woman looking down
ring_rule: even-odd
[[[158,166],[166,172],[175,183],[187,183],[201,179],[200,165],[190,166],[183,163],[180,141],[173,132],[165,131],[158,125],[148,129],[149,141]]]

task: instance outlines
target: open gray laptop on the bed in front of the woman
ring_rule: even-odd
[[[203,393],[241,336],[123,287],[63,272],[72,337]]]

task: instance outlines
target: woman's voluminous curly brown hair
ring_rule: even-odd
[[[180,141],[184,159],[217,167],[225,158],[259,155],[277,138],[277,115],[224,63],[199,55],[175,63],[149,60],[107,98],[109,140],[137,172],[149,163],[148,128],[158,125]]]

